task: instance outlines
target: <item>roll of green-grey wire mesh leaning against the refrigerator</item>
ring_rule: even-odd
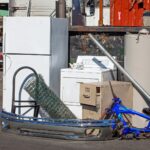
[[[41,75],[39,75],[38,83],[33,75],[24,85],[24,89],[29,95],[37,101],[51,118],[55,119],[75,119],[75,115],[67,106],[49,89],[45,84]]]

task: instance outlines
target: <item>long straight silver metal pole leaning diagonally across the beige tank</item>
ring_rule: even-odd
[[[107,50],[94,38],[92,34],[89,34],[89,37],[98,46],[98,48],[117,66],[117,68],[132,82],[140,94],[144,96],[146,103],[149,105],[150,95],[144,90],[144,88],[107,52]]]

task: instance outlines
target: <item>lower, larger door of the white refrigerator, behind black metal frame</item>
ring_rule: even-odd
[[[3,80],[3,109],[10,112],[12,104],[12,82],[15,71],[22,66],[29,66],[41,74],[46,82],[49,84],[49,67],[50,56],[33,56],[33,55],[4,55],[4,80]],[[19,100],[19,90],[25,78],[33,73],[28,69],[21,70],[16,77],[16,100]],[[22,100],[31,100],[30,96],[22,90]]]

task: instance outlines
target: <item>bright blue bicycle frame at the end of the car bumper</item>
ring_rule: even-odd
[[[113,105],[110,109],[108,109],[108,113],[115,116],[116,124],[112,125],[113,130],[117,129],[117,122],[121,124],[122,130],[121,134],[127,135],[127,134],[133,134],[135,137],[139,137],[141,133],[150,133],[150,116],[145,115],[143,113],[139,113],[135,110],[132,110],[130,108],[127,108],[121,104],[122,100],[120,98],[114,98],[113,99]],[[144,128],[136,128],[131,125],[129,125],[128,121],[125,120],[123,115],[137,115],[139,117],[145,118],[148,120],[148,124]]]

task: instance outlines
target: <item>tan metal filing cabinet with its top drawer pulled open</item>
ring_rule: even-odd
[[[129,82],[111,81],[111,85],[115,95],[122,99],[123,105],[132,108],[132,84]],[[95,93],[95,89],[97,89],[98,87],[99,90],[97,91],[97,93]],[[85,83],[81,84],[80,89],[80,102],[83,105],[83,119],[102,119],[103,115],[106,112],[106,108],[109,108],[112,104],[113,94],[109,82],[91,84]],[[86,95],[86,98],[84,95]]]

